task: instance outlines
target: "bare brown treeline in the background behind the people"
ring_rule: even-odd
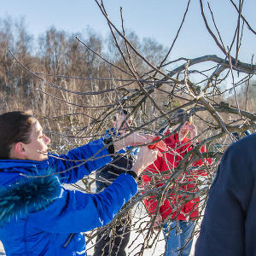
[[[167,49],[152,38],[140,39],[134,32],[126,32],[126,38],[154,67],[158,67],[166,56]],[[125,61],[129,65],[125,65]],[[137,78],[151,80],[150,84],[158,79],[159,74],[148,73],[152,68],[116,34],[102,38],[90,29],[69,34],[51,27],[34,38],[26,31],[25,20],[0,20],[0,113],[32,109],[50,131],[55,131],[57,140],[60,141],[61,135],[65,143],[71,142],[66,134],[97,136],[109,126],[106,111],[118,104],[120,97],[127,95],[127,89],[130,95],[131,89],[135,93],[139,91],[128,66]],[[163,67],[162,70],[166,72],[166,69]],[[173,90],[168,86],[166,83],[161,87],[162,91],[155,90],[151,95],[164,111],[184,103],[180,97],[172,99]],[[240,108],[252,111],[256,107],[253,82],[241,88],[237,90]],[[180,93],[177,96],[186,97]],[[218,97],[218,101],[223,99],[236,106],[233,92],[230,96]],[[140,100],[133,96],[126,106],[134,106]],[[141,108],[139,118],[142,122],[160,114],[152,100],[147,99]],[[207,114],[201,118],[207,119]],[[89,125],[93,127],[90,131]],[[157,129],[154,125],[153,122],[153,129]],[[204,124],[199,127],[203,129]]]

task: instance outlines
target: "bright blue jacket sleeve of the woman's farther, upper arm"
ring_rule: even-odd
[[[90,142],[67,154],[49,157],[49,168],[58,172],[61,183],[76,183],[90,172],[108,164],[112,158],[103,138]]]

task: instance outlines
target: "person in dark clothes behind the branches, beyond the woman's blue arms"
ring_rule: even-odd
[[[127,114],[123,110],[119,119],[117,116],[114,117],[113,130],[110,132],[125,134],[125,129],[131,125],[131,119],[126,119]],[[122,125],[121,129],[120,125]],[[125,152],[122,149],[119,155],[113,157],[110,165],[103,166],[102,169],[96,172],[96,193],[107,189],[121,173],[131,170],[134,153],[136,153],[134,149],[131,152]],[[94,256],[125,256],[125,247],[129,243],[130,236],[131,211],[128,211],[122,218],[117,220],[117,224],[113,226],[111,234],[106,230],[102,230],[96,237]]]

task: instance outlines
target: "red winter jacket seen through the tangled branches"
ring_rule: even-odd
[[[166,135],[169,134],[170,131],[166,132]],[[175,168],[178,166],[178,163],[183,160],[183,157],[187,152],[194,148],[194,146],[189,142],[188,137],[184,137],[183,141],[180,143],[178,139],[178,134],[175,133],[170,137],[166,137],[164,139],[167,148],[169,151],[163,154],[162,157],[159,157],[154,161],[154,163],[147,167],[144,170],[143,182],[144,185],[151,182],[154,182],[156,187],[160,187],[163,185],[163,180],[166,180],[170,177],[171,173],[175,171]],[[206,152],[205,146],[201,147],[201,152]],[[211,164],[212,159],[205,160],[206,164]],[[193,164],[193,166],[202,166],[203,161],[199,160]],[[161,175],[161,179],[157,180],[159,175],[154,175],[153,172]],[[196,185],[195,181],[198,179],[198,176],[206,176],[207,172],[204,170],[192,170],[183,173],[180,177],[176,179],[174,183],[172,183],[171,187],[168,191],[171,191],[170,194],[165,194],[165,199],[163,198],[163,204],[160,206],[160,215],[163,219],[167,218],[170,214],[172,214],[172,219],[177,220],[195,220],[198,218],[198,203],[199,198],[195,198],[187,202],[185,205],[181,203],[184,199],[184,195],[177,195],[177,190],[195,192]],[[152,183],[151,182],[151,183]],[[155,209],[157,207],[157,201],[155,196],[149,196],[144,200],[145,207],[147,208],[149,214],[154,214]],[[180,204],[181,203],[181,204]],[[173,209],[173,207],[178,207],[180,204],[178,211]],[[178,214],[177,214],[178,212]]]

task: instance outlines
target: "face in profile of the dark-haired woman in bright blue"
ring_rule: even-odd
[[[37,160],[42,161],[48,159],[47,145],[50,140],[43,133],[42,126],[36,121],[32,124],[32,131],[30,134],[30,143],[23,144],[26,160]]]

